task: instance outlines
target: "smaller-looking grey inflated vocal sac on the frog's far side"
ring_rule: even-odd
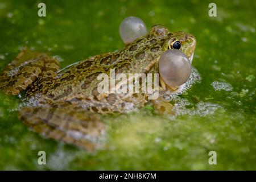
[[[119,33],[123,43],[130,44],[135,39],[147,34],[147,28],[144,22],[134,16],[125,18],[119,27]]]

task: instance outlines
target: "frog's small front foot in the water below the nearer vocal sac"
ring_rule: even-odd
[[[158,97],[158,99],[153,100],[152,102],[155,107],[156,113],[167,114],[167,115],[175,114],[173,110],[174,106],[170,102],[164,100],[164,98]]]

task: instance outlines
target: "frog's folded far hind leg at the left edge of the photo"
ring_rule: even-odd
[[[10,95],[17,95],[26,90],[39,76],[59,70],[59,63],[44,53],[24,48],[19,55],[7,65],[0,75],[0,90]]]

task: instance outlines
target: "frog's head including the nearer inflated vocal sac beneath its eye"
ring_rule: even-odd
[[[173,91],[178,90],[191,74],[191,64],[188,63],[188,59],[192,63],[196,47],[195,37],[184,32],[170,32],[160,25],[153,26],[149,36],[158,40],[158,44],[161,46],[161,50],[158,52],[158,57],[161,59],[157,59],[159,60],[161,86],[163,88],[167,86]],[[178,49],[179,51],[173,50],[171,53],[170,51],[167,52],[168,49]]]

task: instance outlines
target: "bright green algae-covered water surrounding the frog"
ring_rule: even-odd
[[[19,98],[0,93],[0,169],[256,169],[255,1],[216,1],[217,17],[210,1],[44,2],[39,18],[36,1],[0,0],[1,69],[26,45],[60,56],[61,67],[122,48],[119,23],[133,15],[195,35],[202,80],[176,101],[176,118],[150,107],[105,117],[108,147],[94,154],[32,133],[16,117]]]

